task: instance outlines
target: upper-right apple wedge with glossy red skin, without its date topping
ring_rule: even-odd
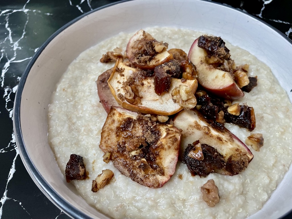
[[[197,68],[198,83],[218,97],[232,100],[243,97],[243,91],[232,79],[229,72],[216,69],[206,63],[207,53],[198,47],[198,39],[194,41],[188,54],[188,58]]]

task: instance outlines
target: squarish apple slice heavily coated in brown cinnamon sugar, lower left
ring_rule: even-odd
[[[110,153],[119,171],[152,188],[166,183],[178,161],[181,132],[149,117],[112,107],[102,127],[99,147]]]

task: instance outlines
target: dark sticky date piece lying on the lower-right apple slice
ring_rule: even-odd
[[[195,143],[195,142],[194,142]],[[204,159],[197,160],[188,156],[189,152],[195,150],[195,145],[188,144],[183,154],[183,162],[187,164],[187,168],[190,173],[206,177],[209,173],[213,173],[214,170],[220,170],[224,168],[224,159],[221,154],[217,152],[214,147],[207,144],[201,144]]]

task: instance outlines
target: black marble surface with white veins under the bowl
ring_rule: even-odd
[[[79,15],[112,2],[0,1],[0,218],[69,218],[42,194],[22,164],[13,134],[13,101],[22,72],[46,39]],[[214,2],[250,13],[292,39],[291,0]],[[292,218],[292,213],[284,218]]]

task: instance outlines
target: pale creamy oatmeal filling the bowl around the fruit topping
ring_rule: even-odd
[[[186,53],[199,32],[171,28],[146,29],[168,48]],[[246,218],[256,213],[269,199],[291,163],[291,103],[271,70],[253,55],[226,43],[237,65],[248,63],[249,75],[258,76],[258,85],[236,102],[255,109],[256,128],[250,132],[231,124],[225,126],[245,142],[251,133],[262,133],[265,144],[245,171],[234,176],[211,173],[206,178],[191,176],[187,166],[178,161],[171,179],[161,188],[140,185],[103,161],[98,147],[107,113],[99,102],[95,81],[113,63],[101,63],[102,54],[114,48],[126,49],[133,33],[121,33],[88,49],[68,67],[49,106],[49,132],[55,158],[62,173],[70,154],[84,158],[87,180],[73,180],[81,197],[102,213],[113,218]],[[112,181],[98,192],[91,192],[92,180],[102,170],[114,172]],[[202,199],[201,186],[213,179],[220,201],[215,207]],[[65,180],[65,177],[64,177]]]

